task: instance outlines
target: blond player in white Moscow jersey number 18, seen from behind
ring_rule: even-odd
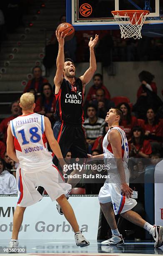
[[[60,146],[55,140],[47,117],[33,113],[35,97],[25,93],[20,97],[23,115],[15,118],[8,126],[7,153],[20,164],[16,178],[18,182],[18,203],[13,216],[13,233],[10,247],[18,246],[18,233],[23,221],[25,208],[40,201],[43,197],[35,189],[43,186],[51,200],[61,205],[65,218],[75,232],[76,245],[89,245],[79,230],[73,209],[65,197],[71,185],[64,182],[59,170],[53,164],[52,153],[48,151],[47,141],[63,167],[65,163]],[[66,164],[67,165],[67,164]]]

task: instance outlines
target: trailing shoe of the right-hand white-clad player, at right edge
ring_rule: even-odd
[[[149,233],[153,236],[155,240],[155,248],[163,246],[163,227],[154,225],[150,229]]]

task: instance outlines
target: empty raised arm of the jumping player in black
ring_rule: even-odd
[[[96,71],[96,59],[95,59],[95,53],[94,53],[94,47],[97,44],[98,41],[98,35],[95,35],[95,38],[90,38],[89,41],[89,48],[90,48],[90,67],[85,71],[83,76],[80,77],[83,83],[83,87],[85,87],[86,84],[90,82],[90,80],[93,77],[93,74]]]

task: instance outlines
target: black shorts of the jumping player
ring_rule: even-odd
[[[71,152],[72,159],[85,159],[87,156],[87,148],[85,143],[85,130],[82,125],[65,125],[60,121],[56,121],[53,127],[55,139],[60,145],[63,158],[67,155],[68,151]],[[53,157],[53,163],[58,166],[58,159]]]

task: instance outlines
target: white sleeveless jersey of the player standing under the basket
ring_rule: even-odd
[[[125,131],[123,131],[123,129],[121,129],[119,126],[114,126],[113,128],[110,128],[103,139],[104,162],[105,162],[105,164],[108,164],[110,162],[110,169],[117,168],[111,144],[108,142],[108,134],[113,129],[119,131],[120,136],[122,138],[122,145],[121,145],[122,159],[123,159],[123,166],[126,167],[127,163],[128,163],[128,157],[129,157],[128,141],[127,141],[127,138],[125,135]]]

